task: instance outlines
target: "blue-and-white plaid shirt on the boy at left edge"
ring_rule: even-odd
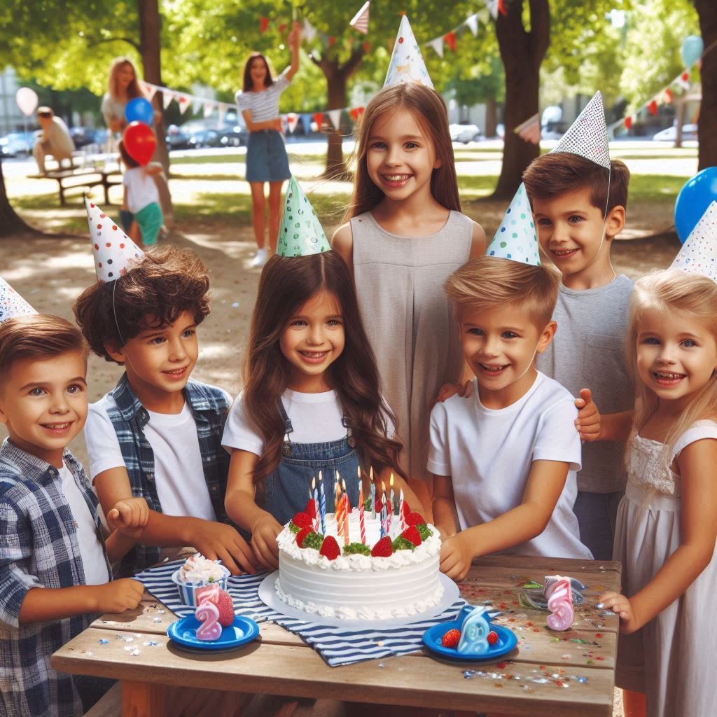
[[[90,508],[104,545],[98,500],[85,471],[65,451],[65,465]],[[107,565],[108,574],[112,574]],[[57,673],[50,655],[90,625],[94,615],[19,625],[28,590],[85,584],[77,529],[60,490],[57,468],[6,439],[0,447],[0,714],[72,717],[82,702],[72,676]]]

